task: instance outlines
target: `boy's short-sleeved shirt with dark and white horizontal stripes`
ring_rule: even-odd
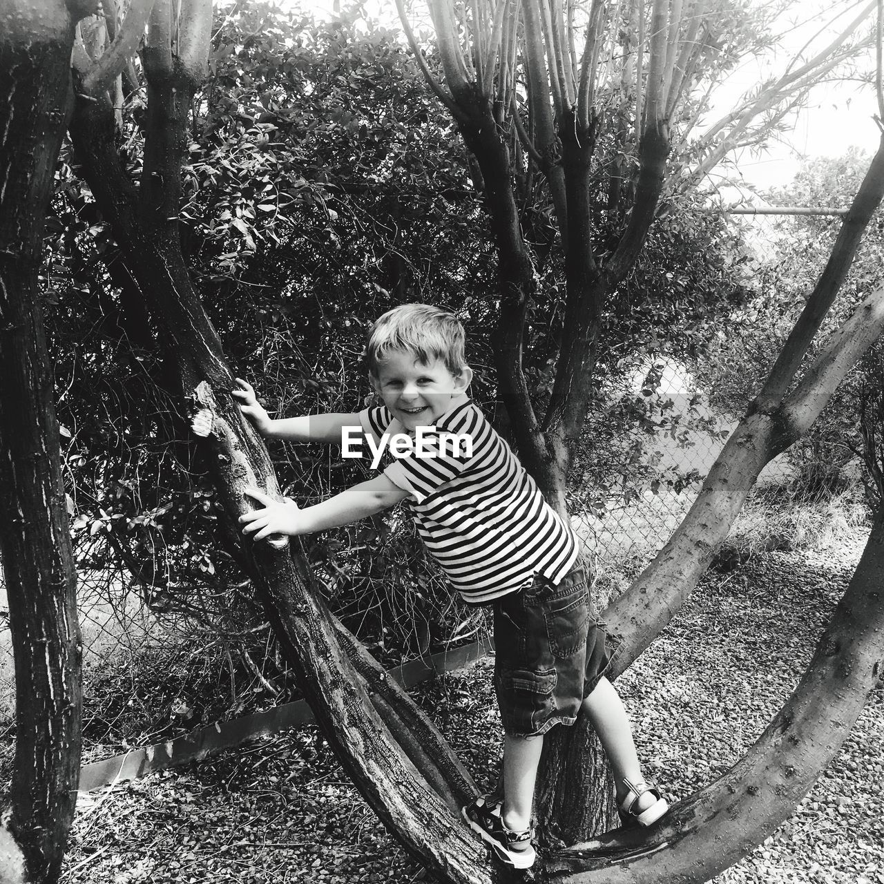
[[[385,433],[415,439],[385,406],[359,418],[376,444]],[[409,493],[423,543],[465,601],[499,598],[537,574],[558,582],[568,573],[578,553],[574,531],[469,399],[421,428],[418,441],[410,452],[388,454],[381,469]]]

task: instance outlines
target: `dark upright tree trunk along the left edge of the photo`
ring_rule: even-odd
[[[11,807],[0,878],[58,878],[80,776],[77,574],[37,271],[71,106],[73,28],[58,0],[0,13],[0,556],[15,655]]]

